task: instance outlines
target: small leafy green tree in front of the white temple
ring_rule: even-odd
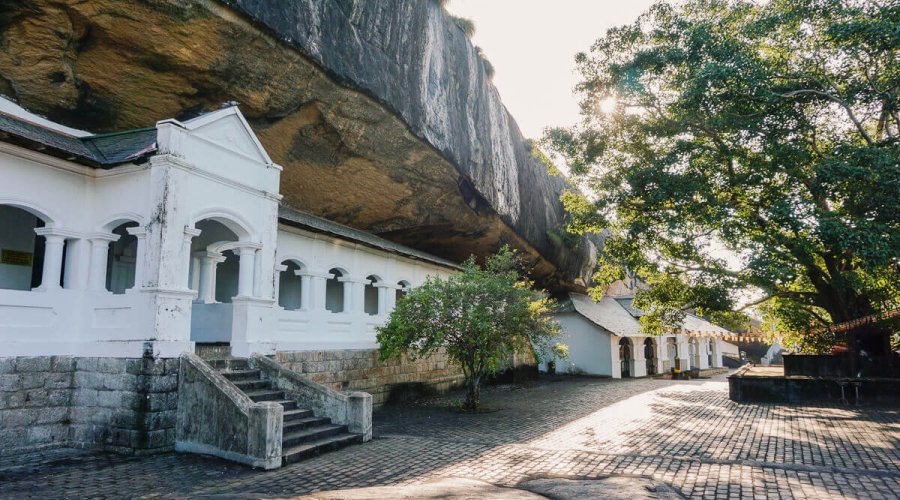
[[[415,359],[443,349],[465,375],[464,408],[477,409],[484,377],[510,355],[540,356],[558,347],[559,325],[549,314],[553,303],[520,277],[517,265],[504,246],[484,267],[470,257],[461,273],[433,276],[410,290],[378,328],[381,359]]]

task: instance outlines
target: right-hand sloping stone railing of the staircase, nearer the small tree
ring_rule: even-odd
[[[313,410],[316,416],[329,417],[336,424],[346,425],[350,432],[362,434],[363,441],[372,439],[371,394],[335,391],[259,354],[250,358],[250,365],[261,371],[263,377],[271,380],[288,398],[296,399],[301,406]]]

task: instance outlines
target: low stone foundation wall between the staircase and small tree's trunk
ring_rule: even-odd
[[[341,391],[363,391],[372,404],[445,392],[463,383],[462,370],[445,355],[380,361],[377,349],[278,352],[276,361],[314,382]]]

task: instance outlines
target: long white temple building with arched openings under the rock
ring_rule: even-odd
[[[0,114],[0,356],[371,349],[448,261],[279,207],[237,107],[106,135]]]

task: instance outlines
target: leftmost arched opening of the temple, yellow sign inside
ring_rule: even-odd
[[[34,230],[44,225],[44,220],[27,210],[0,205],[0,288],[31,290],[41,286],[46,238]],[[61,286],[62,272],[59,282]]]

